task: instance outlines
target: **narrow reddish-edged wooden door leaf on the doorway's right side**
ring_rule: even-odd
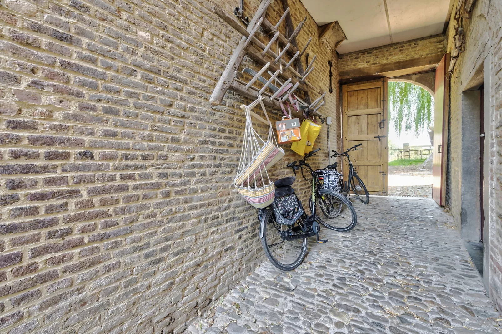
[[[434,88],[432,198],[441,206],[445,205],[446,199],[446,156],[450,96],[450,82],[446,79],[446,72],[449,65],[450,55],[446,54],[436,68],[436,84]]]

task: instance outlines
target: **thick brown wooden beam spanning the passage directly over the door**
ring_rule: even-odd
[[[395,77],[399,75],[426,72],[436,68],[443,58],[444,53],[438,53],[431,56],[400,60],[394,63],[372,65],[366,67],[353,68],[340,71],[339,79],[343,82],[358,81],[357,78],[368,78],[371,76]]]

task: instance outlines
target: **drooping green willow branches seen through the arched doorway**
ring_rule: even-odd
[[[434,101],[431,94],[420,86],[409,82],[389,82],[390,126],[401,134],[419,135],[434,121]]]

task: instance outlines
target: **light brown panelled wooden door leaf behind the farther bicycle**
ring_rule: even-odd
[[[342,86],[343,147],[362,143],[351,152],[357,175],[370,195],[387,194],[387,78]],[[380,138],[379,138],[380,136]],[[343,162],[344,181],[348,163]]]

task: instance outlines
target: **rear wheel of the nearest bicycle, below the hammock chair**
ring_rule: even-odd
[[[303,225],[302,218],[293,225],[279,224],[274,210],[269,208],[264,219],[262,246],[265,254],[277,268],[284,271],[295,269],[302,263],[307,253],[307,238],[288,240],[287,236],[302,232],[299,229]]]

